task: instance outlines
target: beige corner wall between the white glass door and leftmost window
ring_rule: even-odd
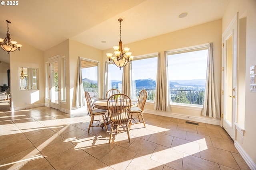
[[[66,102],[60,103],[60,109],[66,113],[70,113],[75,108],[75,94],[76,94],[76,81],[77,81],[77,65],[78,56],[82,59],[90,59],[102,64],[102,51],[88,45],[67,39],[62,43],[46,50],[44,52],[44,63],[48,59],[59,55],[66,59]],[[100,70],[101,73],[101,70]],[[100,74],[100,77],[103,76]],[[100,87],[100,82],[98,82]],[[100,89],[100,88],[99,88]],[[99,96],[100,97],[100,96]]]

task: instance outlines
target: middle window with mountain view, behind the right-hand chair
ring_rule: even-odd
[[[132,98],[138,99],[141,90],[154,101],[156,92],[157,54],[138,57],[132,61]]]

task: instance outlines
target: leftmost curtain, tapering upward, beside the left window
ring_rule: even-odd
[[[84,85],[82,80],[82,67],[81,59],[78,57],[78,70],[77,70],[77,82],[76,82],[76,108],[85,106],[84,102]]]

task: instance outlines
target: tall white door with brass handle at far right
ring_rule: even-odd
[[[237,16],[222,35],[222,127],[234,140],[236,122]]]

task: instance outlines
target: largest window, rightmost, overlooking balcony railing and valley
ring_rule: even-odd
[[[203,105],[208,45],[167,53],[170,101]]]

